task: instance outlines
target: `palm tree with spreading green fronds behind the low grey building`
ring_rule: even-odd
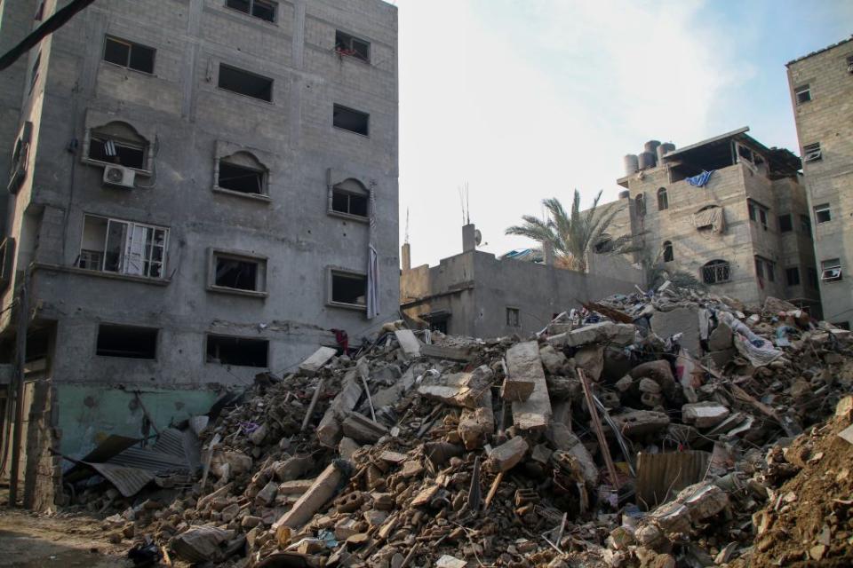
[[[625,254],[638,249],[634,243],[634,235],[630,234],[604,241],[610,223],[621,208],[596,211],[601,198],[602,192],[598,192],[593,206],[581,211],[580,192],[576,189],[570,213],[556,197],[543,200],[542,205],[548,212],[546,218],[523,215],[524,224],[507,227],[505,233],[528,237],[540,245],[550,243],[557,257],[557,264],[578,272],[586,272],[586,254],[590,248],[597,248],[596,252],[606,254]]]

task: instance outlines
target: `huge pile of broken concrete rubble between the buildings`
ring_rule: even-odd
[[[200,480],[114,491],[106,525],[233,566],[748,565],[753,513],[796,506],[780,448],[851,390],[851,346],[792,304],[668,284],[528,338],[398,322],[358,359],[260,375],[199,430]]]

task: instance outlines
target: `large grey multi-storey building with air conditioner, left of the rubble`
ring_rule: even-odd
[[[0,3],[0,51],[57,4]],[[50,448],[141,438],[395,317],[397,93],[380,0],[96,2],[0,72],[30,503]]]

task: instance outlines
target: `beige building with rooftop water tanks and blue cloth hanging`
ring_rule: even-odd
[[[745,304],[767,296],[820,315],[809,209],[800,160],[734,130],[676,149],[656,140],[628,154],[628,201],[611,225],[633,233],[637,253],[690,272],[718,295]]]

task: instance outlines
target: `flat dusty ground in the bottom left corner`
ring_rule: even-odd
[[[92,517],[38,517],[0,508],[0,566],[117,568],[132,565],[124,560],[127,548],[109,544]]]

